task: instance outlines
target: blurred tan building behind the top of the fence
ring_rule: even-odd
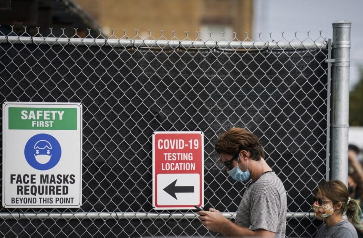
[[[196,31],[200,37],[209,38],[209,31],[213,39],[220,39],[225,32],[227,40],[233,39],[233,31],[237,38],[245,39],[246,33],[252,30],[253,0],[74,0],[103,29],[105,36],[114,34],[123,36],[123,29],[127,29],[127,36],[134,37],[135,29],[139,29],[139,36],[147,38],[148,29],[152,29],[152,36],[161,36],[164,30],[167,39],[176,37],[184,39],[185,30],[189,31],[189,38],[196,39]]]

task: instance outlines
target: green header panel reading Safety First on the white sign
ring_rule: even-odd
[[[9,108],[9,129],[77,130],[77,108]]]

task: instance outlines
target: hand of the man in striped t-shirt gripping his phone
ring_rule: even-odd
[[[207,229],[215,232],[220,232],[223,229],[224,224],[228,222],[227,218],[225,218],[219,210],[214,208],[209,208],[209,212],[199,211],[198,215],[201,223]]]

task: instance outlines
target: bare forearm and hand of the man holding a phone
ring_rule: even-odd
[[[225,218],[219,210],[209,208],[209,212],[200,211],[198,212],[199,219],[202,224],[209,230],[219,232],[224,236],[230,237],[274,237],[275,233],[272,231],[257,229],[250,230],[246,227],[238,226],[232,221]]]

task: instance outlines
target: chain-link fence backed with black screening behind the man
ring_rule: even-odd
[[[152,209],[152,133],[204,131],[205,208],[233,220],[245,187],[216,162],[213,145],[234,126],[261,139],[266,162],[284,183],[286,235],[312,236],[321,223],[309,197],[329,164],[327,57],[322,36],[203,42],[188,33],[170,41],[151,33],[1,34],[0,101],[83,105],[83,205],[2,208],[0,233],[215,236],[195,211]]]

